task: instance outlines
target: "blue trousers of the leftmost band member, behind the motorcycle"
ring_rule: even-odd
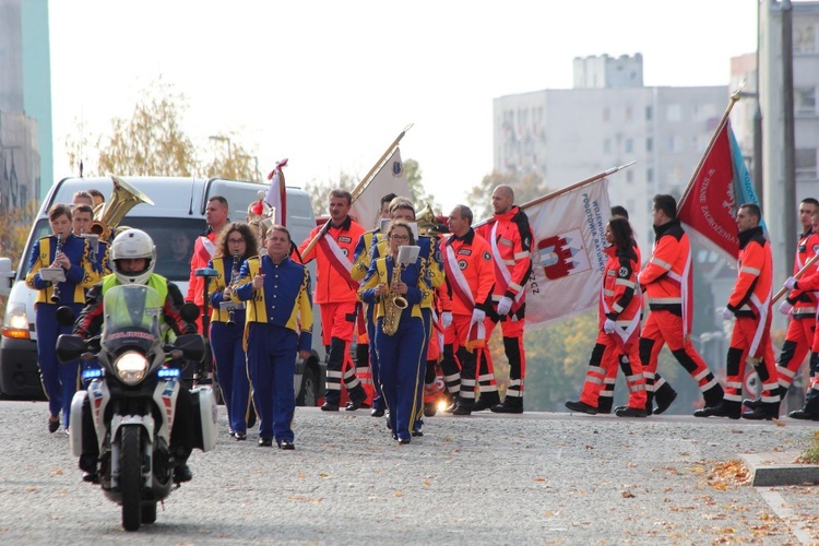
[[[51,417],[57,417],[62,411],[62,424],[69,427],[71,416],[71,399],[76,392],[76,378],[80,363],[60,364],[57,361],[57,337],[70,334],[73,327],[61,327],[57,323],[56,304],[37,304],[35,328],[37,329],[37,363],[43,378],[43,388],[48,396],[48,411]],[[75,316],[80,316],[82,304],[68,305]]]

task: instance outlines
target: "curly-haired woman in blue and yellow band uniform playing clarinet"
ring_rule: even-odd
[[[247,439],[248,420],[252,419],[247,355],[242,347],[245,332],[245,305],[233,311],[222,310],[222,304],[237,306],[233,300],[234,285],[238,281],[241,263],[257,256],[256,235],[247,224],[234,222],[225,226],[216,238],[216,251],[207,263],[218,275],[211,278],[211,349],[216,361],[216,376],[227,410],[229,434],[237,440]]]

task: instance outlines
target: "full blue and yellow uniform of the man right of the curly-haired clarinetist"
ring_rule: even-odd
[[[257,274],[264,275],[259,290],[252,284]],[[259,438],[293,442],[296,353],[312,343],[310,272],[289,258],[275,263],[268,254],[253,257],[241,264],[234,295],[248,301],[245,346]]]

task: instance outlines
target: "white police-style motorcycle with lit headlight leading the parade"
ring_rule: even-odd
[[[91,476],[86,480],[98,483],[105,496],[122,507],[126,531],[154,523],[157,502],[170,495],[174,470],[185,463],[170,447],[182,389],[180,370],[174,363],[201,361],[205,354],[199,334],[163,343],[163,304],[159,293],[150,286],[112,287],[104,296],[99,336],[86,341],[63,334],[57,340],[60,361],[80,358],[86,364],[82,379],[87,389],[78,391],[71,401],[72,454],[81,458],[83,466],[82,458],[88,458],[83,446],[85,451],[88,443],[98,448],[96,460],[86,462],[83,468]],[[192,304],[182,308],[186,320],[195,320],[198,313]],[[59,320],[73,322],[73,317],[63,313]],[[98,366],[87,366],[95,360]],[[216,446],[216,400],[210,387],[194,388],[190,394],[194,447],[210,451]],[[91,414],[85,426],[83,412],[86,419]]]

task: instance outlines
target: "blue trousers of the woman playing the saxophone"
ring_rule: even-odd
[[[407,439],[422,402],[418,392],[424,388],[427,357],[424,321],[417,317],[402,317],[394,335],[385,335],[381,329],[382,319],[378,322],[376,347],[381,392],[390,410],[392,430],[399,438]]]

